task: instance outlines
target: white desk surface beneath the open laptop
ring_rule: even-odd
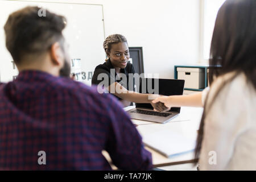
[[[133,109],[135,106],[125,107],[124,110]],[[197,130],[199,129],[201,115],[203,113],[203,108],[201,107],[181,107],[180,114],[167,123],[155,123],[148,121],[140,121],[137,119],[132,119],[132,122],[137,125],[139,133],[142,135],[146,134],[145,131],[150,130],[168,130],[175,131],[182,134],[184,137],[196,139]],[[160,139],[159,139],[160,140]],[[171,143],[168,143],[171,144]],[[180,164],[184,162],[192,162],[194,159],[193,152],[187,154],[178,155],[172,158],[167,158],[166,156],[160,154],[159,152],[145,147],[152,154],[152,160],[155,167],[160,166],[170,166],[175,164]],[[104,154],[107,155],[107,154]],[[109,156],[107,157],[109,158]]]

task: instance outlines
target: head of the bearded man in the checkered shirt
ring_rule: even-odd
[[[58,76],[59,73],[61,76],[69,76],[70,66],[68,56],[65,55],[67,46],[62,34],[67,20],[64,16],[47,10],[47,16],[40,17],[39,10],[39,7],[26,7],[9,16],[4,27],[6,48],[13,56],[19,71],[22,71],[23,67],[40,68],[41,71],[52,73],[54,76]],[[57,57],[65,59],[64,63],[60,63]],[[51,64],[57,64],[60,72],[56,72],[58,68],[54,68],[53,71],[53,67],[49,67]]]

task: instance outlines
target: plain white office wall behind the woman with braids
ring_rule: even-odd
[[[145,73],[174,78],[174,65],[199,62],[199,0],[54,1],[103,5],[105,35],[123,34],[130,47],[143,47]]]

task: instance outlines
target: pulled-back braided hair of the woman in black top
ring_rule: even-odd
[[[108,54],[110,52],[111,45],[112,44],[117,44],[119,42],[126,42],[127,43],[127,39],[125,38],[125,36],[123,36],[121,34],[109,35],[108,38],[106,38],[106,40],[103,43],[103,48],[104,48],[105,52]],[[107,60],[108,59],[106,59],[106,61]]]

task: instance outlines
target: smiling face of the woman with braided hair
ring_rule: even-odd
[[[128,44],[126,42],[112,44],[108,57],[114,68],[125,68],[130,58]]]

